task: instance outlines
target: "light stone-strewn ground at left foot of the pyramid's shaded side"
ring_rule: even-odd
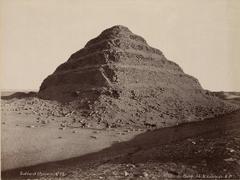
[[[31,108],[27,107],[27,104],[31,104]],[[24,114],[24,111],[27,111],[30,115],[34,116],[34,119],[36,119],[37,123],[40,123],[42,125],[47,125],[49,123],[55,122],[57,124],[66,124],[66,126],[71,127],[72,119],[81,119],[81,122],[83,122],[83,118],[81,116],[81,113],[74,112],[71,105],[63,105],[59,102],[55,101],[48,101],[39,99],[37,97],[28,97],[24,99],[12,99],[12,100],[2,100],[1,102],[2,112],[5,112],[6,107],[8,109],[8,113],[17,113],[17,114]],[[65,117],[64,113],[70,113],[71,115],[69,117]],[[57,121],[55,121],[55,118]],[[86,123],[86,122],[85,122]],[[79,122],[74,122],[75,127],[82,127],[82,124]]]

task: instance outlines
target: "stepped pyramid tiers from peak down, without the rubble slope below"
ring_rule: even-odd
[[[196,79],[184,74],[160,50],[150,47],[128,28],[114,26],[90,40],[47,77],[40,95],[71,101],[86,92],[108,91],[120,96],[126,90],[144,87],[201,89]]]

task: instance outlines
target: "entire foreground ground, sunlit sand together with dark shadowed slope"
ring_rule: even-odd
[[[2,108],[2,179],[240,178],[240,111],[143,132],[59,128],[68,117],[45,124],[11,109]]]

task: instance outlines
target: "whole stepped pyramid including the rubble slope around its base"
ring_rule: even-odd
[[[38,96],[70,106],[93,126],[159,128],[239,107],[204,90],[127,27],[113,26],[72,54]]]

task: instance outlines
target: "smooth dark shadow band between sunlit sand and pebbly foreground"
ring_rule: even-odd
[[[114,143],[111,147],[103,149],[96,153],[87,154],[81,157],[71,158],[57,162],[47,162],[31,167],[23,167],[14,170],[2,172],[3,179],[16,179],[20,177],[20,172],[56,172],[64,168],[86,168],[86,164],[102,164],[106,162],[117,163],[118,159],[129,156],[139,150],[148,150],[163,144],[169,144],[184,140],[189,137],[208,134],[218,136],[227,130],[240,129],[239,116],[240,111],[236,111],[222,117],[182,124],[175,127],[168,127],[154,131],[147,131],[139,134],[127,142]],[[147,162],[146,159],[140,159],[138,162]],[[156,159],[155,161],[160,161]],[[131,159],[125,158],[124,162],[131,162]],[[24,178],[24,177],[22,177]],[[28,177],[31,178],[31,177]],[[35,177],[36,178],[36,177]]]

